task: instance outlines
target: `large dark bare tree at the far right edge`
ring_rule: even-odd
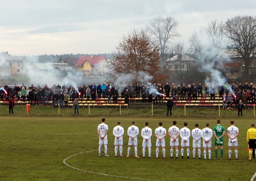
[[[226,21],[228,38],[235,43],[236,52],[244,59],[244,80],[250,80],[249,67],[256,48],[256,16],[235,16]]]

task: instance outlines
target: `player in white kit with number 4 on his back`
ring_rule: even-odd
[[[156,136],[156,158],[158,158],[159,153],[159,147],[162,146],[163,149],[163,156],[165,157],[165,141],[164,137],[166,136],[166,130],[162,127],[163,122],[159,122],[159,127],[155,130],[155,136]]]

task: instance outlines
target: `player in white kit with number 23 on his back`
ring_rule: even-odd
[[[101,119],[101,124],[98,126],[98,135],[99,135],[99,156],[101,153],[101,146],[104,144],[105,147],[105,156],[108,156],[108,137],[107,137],[107,133],[108,133],[108,125],[105,124],[105,118]]]

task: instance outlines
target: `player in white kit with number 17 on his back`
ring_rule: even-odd
[[[198,159],[201,159],[201,133],[202,130],[198,128],[198,124],[195,124],[195,129],[192,130],[191,136],[193,138],[193,159],[196,157],[196,148],[198,149]]]

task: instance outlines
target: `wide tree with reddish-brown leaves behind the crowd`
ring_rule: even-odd
[[[113,59],[109,63],[113,68],[112,76],[116,79],[121,74],[133,75],[130,81],[140,82],[140,72],[152,76],[152,82],[165,82],[170,74],[167,69],[161,69],[159,48],[150,41],[145,30],[132,30],[116,47]]]

